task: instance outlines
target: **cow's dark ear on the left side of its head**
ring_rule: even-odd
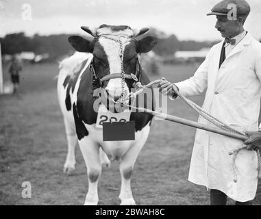
[[[92,43],[81,36],[70,36],[68,40],[72,47],[78,52],[92,53],[93,51]]]

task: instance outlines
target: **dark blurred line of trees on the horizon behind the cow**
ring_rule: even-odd
[[[145,34],[146,35],[146,34]],[[175,35],[166,36],[157,29],[151,28],[147,35],[157,36],[159,43],[153,51],[162,56],[173,55],[175,51],[197,51],[203,47],[211,47],[216,42],[197,42],[193,40],[180,41]],[[22,51],[32,51],[35,54],[49,53],[50,60],[59,60],[64,55],[74,52],[68,42],[69,34],[58,34],[40,36],[35,34],[32,37],[25,33],[7,34],[0,38],[1,53],[13,55]]]

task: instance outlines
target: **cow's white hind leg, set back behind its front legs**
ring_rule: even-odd
[[[64,118],[65,132],[67,138],[67,155],[64,163],[64,172],[70,175],[75,170],[75,146],[77,144],[77,135],[75,127],[73,127],[67,120]]]

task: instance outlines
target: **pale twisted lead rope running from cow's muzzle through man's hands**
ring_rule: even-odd
[[[125,99],[121,99],[121,101],[117,101],[117,102],[121,102],[123,103],[123,101],[129,99],[130,97],[134,97],[136,98],[136,96],[140,93],[142,93],[146,88],[150,88],[151,86],[153,86],[154,84],[158,84],[160,82],[162,82],[164,79],[158,79],[155,81],[151,81],[150,83],[148,83],[145,86],[142,86],[142,84],[140,82],[134,83],[134,88],[140,88],[139,90],[137,90],[136,92],[131,92],[129,94],[129,96],[127,96]],[[233,127],[223,123],[221,120],[215,118],[214,116],[210,115],[208,112],[206,112],[206,110],[204,110],[202,107],[200,107],[199,105],[197,105],[196,103],[190,101],[189,99],[186,99],[185,96],[183,96],[179,90],[177,90],[177,88],[175,86],[173,86],[173,90],[175,92],[175,94],[177,94],[177,96],[179,96],[180,99],[182,99],[183,101],[185,101],[190,107],[192,107],[193,110],[195,110],[199,115],[201,115],[203,118],[206,118],[206,120],[208,120],[210,123],[216,125],[217,127],[220,127],[221,129],[225,130],[225,131],[231,131],[234,133],[239,133],[243,136],[247,136],[247,134],[245,133],[245,131],[239,131],[237,129],[234,129]],[[229,151],[229,155],[233,155],[233,159],[232,159],[232,168],[233,168],[233,172],[234,172],[234,182],[236,183],[238,181],[237,179],[237,174],[236,174],[236,157],[239,153],[240,150],[245,149],[247,146],[240,146],[238,149],[235,149],[234,151]],[[257,153],[257,157],[258,157],[258,178],[261,178],[261,158],[260,158],[260,151],[256,151]]]

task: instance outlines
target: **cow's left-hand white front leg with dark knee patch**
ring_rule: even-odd
[[[98,181],[101,175],[99,144],[96,144],[90,136],[86,136],[82,140],[79,140],[79,147],[84,156],[88,175],[88,192],[84,205],[97,205],[99,201]]]

